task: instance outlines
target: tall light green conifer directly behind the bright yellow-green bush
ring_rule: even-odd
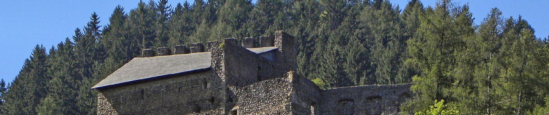
[[[415,65],[419,74],[412,77],[411,90],[415,99],[405,109],[427,109],[433,100],[456,100],[453,90],[463,79],[452,75],[458,55],[464,47],[463,38],[470,37],[474,29],[467,5],[456,7],[449,0],[427,8],[421,16],[416,36],[407,41],[411,58],[406,63]],[[451,105],[452,106],[452,105]]]

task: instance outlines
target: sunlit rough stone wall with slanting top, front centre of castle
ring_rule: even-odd
[[[275,78],[236,88],[236,114],[291,114],[292,86],[288,78]]]

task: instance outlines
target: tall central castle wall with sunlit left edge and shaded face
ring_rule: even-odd
[[[221,78],[227,88],[222,95],[226,97],[225,110],[230,111],[237,104],[237,88],[246,87],[260,81],[283,77],[290,69],[276,64],[254,52],[244,49],[236,39],[208,42],[211,51],[212,72]]]

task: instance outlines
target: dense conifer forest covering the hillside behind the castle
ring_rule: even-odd
[[[467,4],[450,0],[401,7],[386,0],[119,5],[110,16],[91,14],[49,51],[36,45],[14,81],[0,82],[0,114],[96,114],[90,88],[142,49],[278,30],[295,36],[298,73],[321,88],[413,82],[402,114],[426,111],[434,100],[461,114],[549,114],[549,43],[522,17],[494,8],[472,19]]]

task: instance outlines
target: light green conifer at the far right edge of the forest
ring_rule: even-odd
[[[501,74],[505,83],[501,84],[501,93],[505,101],[506,113],[525,114],[543,104],[547,95],[547,76],[542,70],[547,61],[543,52],[543,41],[536,39],[528,22],[519,17],[509,18],[503,28]]]

